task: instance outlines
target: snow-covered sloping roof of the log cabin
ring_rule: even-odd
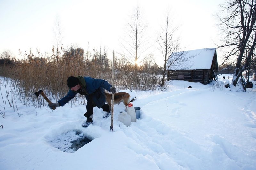
[[[196,70],[210,69],[216,48],[203,48],[173,53],[173,56],[182,55],[181,62],[174,63],[168,70]],[[170,59],[172,60],[172,55]],[[174,57],[177,58],[177,57]]]

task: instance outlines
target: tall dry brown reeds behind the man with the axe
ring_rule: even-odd
[[[42,97],[36,98],[34,92],[42,89],[49,100],[56,102],[69,90],[67,78],[77,75],[105,79],[112,84],[111,63],[112,61],[95,54],[90,59],[88,56],[76,55],[75,52],[72,56],[64,54],[56,60],[54,55],[45,54],[39,57],[30,52],[28,55],[24,54],[22,61],[12,65],[0,65],[0,76],[10,78],[11,94],[21,103],[46,106],[48,103]],[[138,83],[134,78],[133,66],[124,60],[116,60],[116,89],[154,90],[160,85],[160,78],[154,72],[151,63],[144,63],[138,70]],[[85,104],[85,101],[84,96],[77,95],[70,104]]]

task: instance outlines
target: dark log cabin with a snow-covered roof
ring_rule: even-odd
[[[177,59],[180,62],[174,62]],[[172,63],[167,71],[167,80],[185,80],[207,84],[218,80],[218,61],[216,48],[204,48],[173,53]]]

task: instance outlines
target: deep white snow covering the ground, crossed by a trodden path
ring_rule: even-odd
[[[232,75],[220,75],[220,81],[222,76],[232,80]],[[126,127],[118,121],[125,106],[114,105],[114,132],[111,118],[104,119],[96,107],[94,124],[83,128],[85,106],[66,104],[49,113],[44,107],[17,105],[19,117],[6,105],[5,118],[0,117],[0,169],[255,170],[253,83],[246,92],[186,81],[171,81],[165,92],[138,91],[132,103],[141,108],[140,118]],[[92,141],[69,149],[71,141],[84,136]]]

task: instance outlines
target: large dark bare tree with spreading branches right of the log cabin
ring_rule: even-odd
[[[217,17],[223,33],[222,44],[225,61],[236,64],[232,84],[237,85],[244,70],[250,69],[256,45],[256,0],[230,0],[223,4]],[[242,79],[243,81],[243,79]],[[246,90],[245,83],[242,83]]]

